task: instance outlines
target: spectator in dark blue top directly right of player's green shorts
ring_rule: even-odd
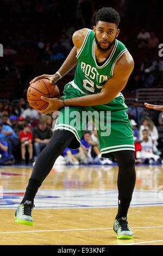
[[[129,115],[129,119],[134,119],[137,125],[139,126],[141,115],[143,114],[143,108],[139,107],[139,100],[135,99],[133,105],[129,107],[127,114]]]

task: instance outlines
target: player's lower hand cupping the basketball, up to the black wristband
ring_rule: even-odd
[[[47,101],[49,105],[43,111],[38,110],[40,114],[52,113],[54,111],[58,111],[58,109],[62,107],[62,101],[58,98],[49,99],[47,97],[41,96],[41,99]]]

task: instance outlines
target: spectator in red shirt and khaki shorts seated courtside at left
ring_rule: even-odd
[[[29,153],[29,163],[32,163],[33,158],[33,145],[32,145],[32,132],[30,131],[31,125],[26,124],[23,131],[19,133],[19,139],[21,143],[21,156],[22,164],[26,163],[26,150]]]

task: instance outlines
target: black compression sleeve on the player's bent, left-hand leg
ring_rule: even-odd
[[[51,172],[55,160],[68,147],[70,142],[74,139],[74,134],[67,130],[56,130],[53,133],[51,141],[46,148],[42,150],[35,162],[32,175],[29,179],[26,193],[21,203],[26,200],[34,201],[35,194],[45,180],[46,176]]]

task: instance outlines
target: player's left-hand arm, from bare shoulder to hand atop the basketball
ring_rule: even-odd
[[[79,31],[74,32],[72,36],[74,47],[72,48],[71,52],[68,54],[64,63],[61,65],[60,69],[58,70],[59,74],[62,77],[65,76],[68,72],[70,72],[70,70],[72,70],[74,66],[78,64],[78,59],[76,58],[76,55],[83,44],[87,31],[89,31],[89,29],[83,28],[83,29],[80,29]],[[35,77],[30,82],[30,84],[41,78],[48,78],[51,83],[56,83],[60,79],[60,76],[57,74],[57,72],[54,75],[44,74],[44,75]]]

